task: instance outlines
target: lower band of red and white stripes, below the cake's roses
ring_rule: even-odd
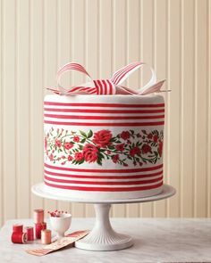
[[[75,174],[77,172],[80,174]],[[48,186],[78,191],[149,190],[163,184],[163,164],[150,168],[85,169],[56,167],[45,163],[44,181]]]

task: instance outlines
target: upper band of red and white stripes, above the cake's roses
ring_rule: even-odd
[[[56,108],[56,107],[45,107],[44,122],[46,124],[55,125],[67,125],[67,126],[108,126],[108,127],[141,127],[141,126],[160,126],[164,125],[165,119],[165,109],[164,103],[157,104],[118,104],[118,103],[51,103],[46,102],[45,106],[67,106],[74,108]],[[148,108],[147,108],[148,106]],[[155,108],[153,108],[153,106]],[[76,107],[76,108],[75,108]],[[84,107],[84,108],[83,108]],[[87,108],[86,108],[87,107]],[[99,109],[95,109],[99,107]],[[110,109],[106,109],[110,107]],[[122,109],[126,107],[126,109]],[[103,108],[103,109],[102,109]],[[117,109],[116,109],[117,108]],[[136,108],[136,109],[135,109]],[[56,114],[57,113],[57,114]],[[62,113],[65,113],[62,114]],[[73,113],[73,114],[68,114]],[[79,113],[79,114],[77,114]],[[80,114],[81,113],[81,114]],[[85,115],[83,113],[89,114]],[[76,115],[77,114],[77,115]],[[95,115],[93,115],[95,114]],[[105,115],[106,114],[106,115]],[[112,116],[115,114],[115,116]],[[118,114],[123,114],[123,116],[118,116]],[[132,115],[134,114],[134,115]],[[139,115],[136,115],[139,114]],[[147,115],[145,115],[147,114]],[[117,116],[116,116],[117,115]],[[66,119],[65,121],[63,121]],[[90,122],[79,122],[79,119],[89,119],[89,120],[102,120],[102,122],[93,121]],[[123,122],[104,122],[104,120],[124,120]],[[138,120],[134,122],[127,122],[126,120]],[[139,122],[139,119],[147,119],[151,122]],[[159,120],[158,120],[159,119]]]

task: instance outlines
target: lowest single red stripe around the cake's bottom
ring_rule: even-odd
[[[163,185],[163,181],[157,185],[146,185],[138,187],[83,187],[83,186],[70,186],[70,185],[54,185],[45,181],[45,184],[55,188],[78,190],[78,191],[97,191],[97,192],[129,192],[129,191],[144,191],[158,188]]]

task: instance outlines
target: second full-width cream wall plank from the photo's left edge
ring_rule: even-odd
[[[17,0],[16,158],[17,216],[30,216],[30,4]],[[28,110],[27,110],[28,109]],[[24,200],[24,202],[23,202]]]

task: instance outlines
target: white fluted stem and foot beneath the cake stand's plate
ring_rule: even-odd
[[[89,251],[117,251],[131,247],[131,236],[118,234],[109,220],[111,204],[95,204],[96,225],[83,239],[75,242],[75,247]]]

